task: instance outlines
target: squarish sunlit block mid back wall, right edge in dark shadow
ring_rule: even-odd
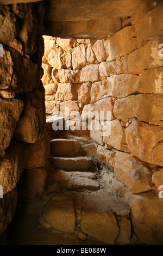
[[[55,99],[61,101],[77,100],[78,94],[76,86],[76,84],[72,83],[59,83]]]

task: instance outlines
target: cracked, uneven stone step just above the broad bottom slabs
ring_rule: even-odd
[[[96,175],[92,172],[65,172],[64,170],[51,171],[50,183],[59,182],[64,190],[98,190],[100,188]]]

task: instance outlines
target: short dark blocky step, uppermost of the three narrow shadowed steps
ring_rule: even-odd
[[[73,139],[52,139],[51,156],[72,157],[79,156],[80,143]]]

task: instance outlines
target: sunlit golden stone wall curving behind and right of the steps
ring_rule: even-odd
[[[162,9],[161,1],[140,4],[106,40],[45,36],[42,64],[47,114],[65,106],[81,114],[111,111],[111,135],[90,131],[90,137],[100,159],[130,190],[133,229],[147,244],[163,237]]]

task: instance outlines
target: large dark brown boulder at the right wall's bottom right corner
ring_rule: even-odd
[[[133,195],[128,199],[133,229],[140,242],[146,245],[162,245],[163,200],[152,193]]]

